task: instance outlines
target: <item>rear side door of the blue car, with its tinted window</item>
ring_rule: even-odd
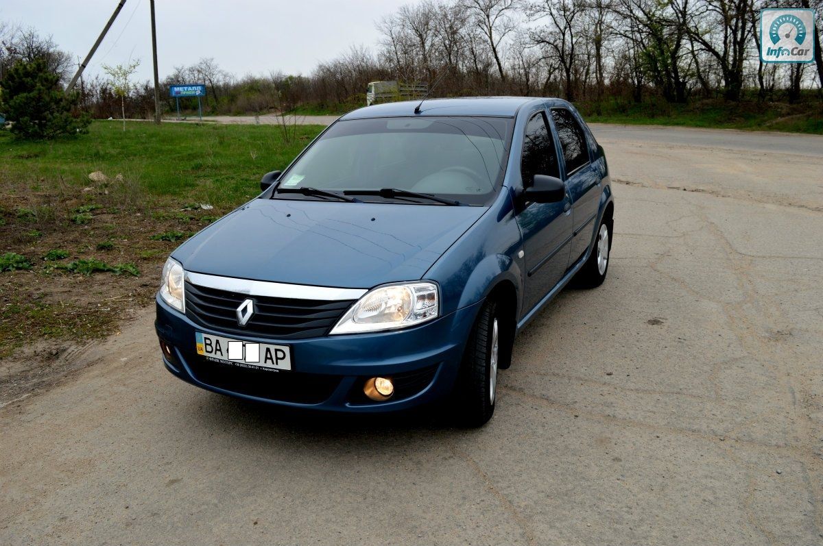
[[[551,119],[562,150],[563,180],[572,201],[571,266],[592,242],[602,185],[589,155],[585,132],[574,113],[564,107],[552,108]]]

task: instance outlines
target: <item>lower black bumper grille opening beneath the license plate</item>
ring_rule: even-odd
[[[188,367],[199,382],[226,391],[295,404],[319,404],[328,400],[340,384],[340,376],[305,372],[272,372],[240,368],[185,353]]]

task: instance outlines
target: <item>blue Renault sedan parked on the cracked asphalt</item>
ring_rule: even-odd
[[[560,99],[359,109],[163,269],[163,362],[277,405],[495,410],[517,332],[570,282],[606,278],[606,157]]]

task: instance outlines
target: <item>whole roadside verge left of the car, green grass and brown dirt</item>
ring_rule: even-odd
[[[255,196],[320,129],[292,141],[251,125],[95,122],[53,142],[0,131],[0,358],[114,331],[151,302],[174,247]]]

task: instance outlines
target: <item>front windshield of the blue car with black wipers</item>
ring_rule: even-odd
[[[502,183],[513,124],[512,118],[428,116],[337,122],[283,174],[278,189],[356,194],[394,188],[483,205]],[[272,197],[322,198],[293,192]],[[387,199],[424,202],[399,193],[362,198]]]

